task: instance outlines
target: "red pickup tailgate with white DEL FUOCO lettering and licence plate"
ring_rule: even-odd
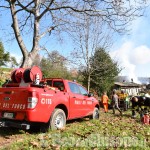
[[[0,88],[0,116],[23,119],[30,93],[28,88]]]

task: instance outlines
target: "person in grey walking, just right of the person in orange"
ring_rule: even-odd
[[[122,115],[122,111],[121,111],[121,109],[118,106],[118,100],[119,100],[119,97],[116,94],[116,90],[113,90],[113,95],[112,95],[112,109],[113,109],[113,114],[115,114],[115,109],[117,109],[120,112],[120,114]]]

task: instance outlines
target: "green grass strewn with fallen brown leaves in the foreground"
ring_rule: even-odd
[[[22,130],[10,131],[5,129],[1,136],[16,139],[1,149],[5,150],[40,150],[40,149],[150,149],[150,126],[143,125],[131,118],[131,112],[127,111],[121,117],[103,113],[99,120],[88,118],[68,121],[66,128],[49,131],[47,133],[28,133]],[[17,138],[17,136],[19,138]]]

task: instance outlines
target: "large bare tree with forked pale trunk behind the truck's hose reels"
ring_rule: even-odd
[[[122,31],[139,15],[145,0],[2,0],[1,12],[11,13],[15,39],[23,55],[21,67],[31,66],[41,49],[40,41],[46,35],[66,31],[82,15],[96,16],[109,27]],[[137,3],[139,2],[139,3]],[[140,5],[140,2],[142,5]],[[76,14],[80,14],[77,15]],[[29,49],[25,38],[32,41]],[[50,41],[51,42],[51,41]]]

